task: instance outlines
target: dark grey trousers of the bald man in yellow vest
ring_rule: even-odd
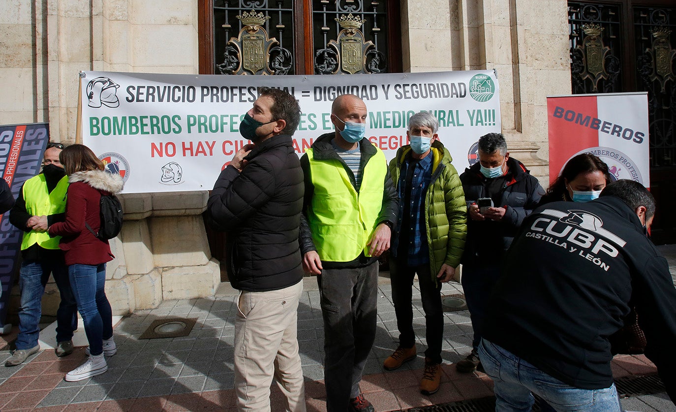
[[[378,262],[356,269],[324,269],[317,277],[324,317],[327,411],[345,412],[376,334]]]

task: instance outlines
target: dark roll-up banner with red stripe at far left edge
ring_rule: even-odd
[[[47,123],[0,125],[0,170],[15,199],[24,182],[40,173],[48,141]],[[23,238],[9,223],[9,213],[0,216],[0,333],[9,333],[5,319]]]

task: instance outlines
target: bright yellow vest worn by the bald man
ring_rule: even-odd
[[[312,149],[306,151],[314,196],[308,210],[312,239],[321,260],[349,262],[368,254],[369,237],[378,224],[383,205],[387,161],[377,150],[364,170],[359,192],[352,184],[343,162],[316,160]]]

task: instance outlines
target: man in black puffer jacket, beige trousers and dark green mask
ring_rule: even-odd
[[[245,145],[221,172],[209,198],[216,225],[228,233],[228,277],[240,290],[235,319],[235,391],[240,411],[270,411],[272,376],[287,411],[305,411],[297,308],[303,292],[298,244],[303,170],[291,135],[296,99],[261,87],[239,132]]]

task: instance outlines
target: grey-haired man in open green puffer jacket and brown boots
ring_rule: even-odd
[[[438,129],[437,119],[429,112],[411,116],[406,132],[410,145],[401,147],[389,164],[400,199],[398,235],[390,248],[400,344],[383,367],[397,369],[416,357],[411,288],[417,273],[428,346],[420,392],[427,395],[439,390],[441,379],[441,283],[455,275],[467,232],[462,183],[450,153],[438,140]]]

